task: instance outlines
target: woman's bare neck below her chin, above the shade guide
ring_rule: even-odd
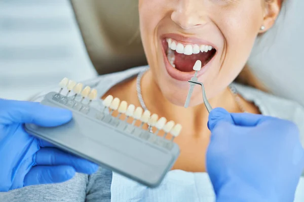
[[[209,134],[206,127],[209,113],[204,104],[186,109],[183,106],[173,105],[164,97],[150,71],[143,75],[141,89],[144,103],[151,113],[166,117],[168,121],[173,120],[175,123],[180,123],[183,130],[185,129],[184,131],[189,134]],[[228,88],[210,99],[209,103],[213,108],[222,107],[230,111],[237,111],[234,96]]]

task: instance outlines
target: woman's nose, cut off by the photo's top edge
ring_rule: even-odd
[[[180,0],[171,14],[171,20],[187,30],[207,23],[207,15],[202,8],[203,1]]]

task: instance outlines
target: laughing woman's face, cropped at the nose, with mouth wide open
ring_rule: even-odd
[[[163,95],[184,105],[197,60],[208,98],[223,91],[244,67],[267,6],[265,0],[139,0],[144,50]],[[201,103],[196,87],[191,105]]]

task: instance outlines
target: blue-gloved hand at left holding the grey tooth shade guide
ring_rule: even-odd
[[[27,134],[24,123],[59,126],[70,111],[39,103],[0,99],[0,191],[71,179],[75,172],[92,174],[98,166],[64,153]]]

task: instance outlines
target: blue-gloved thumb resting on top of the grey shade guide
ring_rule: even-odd
[[[40,103],[0,99],[0,124],[32,123],[44,127],[62,125],[72,118],[68,110]]]

